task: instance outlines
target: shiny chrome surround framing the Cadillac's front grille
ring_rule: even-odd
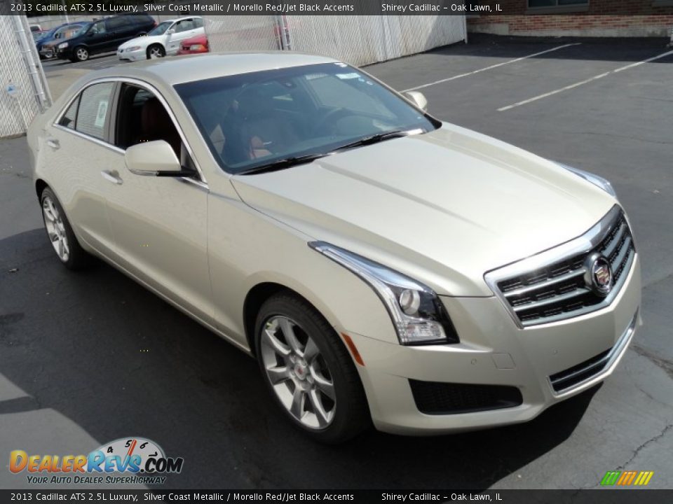
[[[585,232],[583,235],[571,239],[570,241],[566,241],[564,244],[560,244],[553,248],[548,248],[548,250],[543,251],[541,253],[531,255],[528,258],[511,262],[509,265],[498,267],[496,269],[491,269],[491,271],[484,274],[484,281],[486,281],[489,288],[501,301],[505,309],[510,314],[512,321],[514,321],[514,323],[517,325],[517,328],[523,330],[536,328],[538,326],[545,325],[548,323],[567,320],[569,318],[575,318],[587,313],[591,313],[592,311],[598,311],[599,309],[607,307],[609,306],[609,304],[611,304],[611,302],[615,299],[616,295],[620,293],[620,290],[622,289],[627,277],[629,276],[630,269],[628,271],[623,272],[620,279],[613,286],[609,295],[607,295],[604,298],[604,300],[602,300],[598,304],[593,304],[592,306],[572,311],[571,314],[551,316],[545,318],[543,322],[529,325],[524,325],[524,323],[519,321],[519,317],[517,316],[514,308],[508,302],[507,298],[505,297],[505,294],[501,292],[500,288],[498,288],[498,282],[503,281],[504,279],[508,279],[512,276],[519,276],[525,273],[535,271],[536,269],[548,266],[555,262],[569,259],[575,255],[590,252],[592,248],[597,246],[600,243],[601,239],[603,239],[606,230],[610,227],[610,224],[616,218],[616,216],[618,216],[620,211],[621,209],[619,205],[616,204],[610,209],[610,211],[607,214],[605,214],[603,218],[601,218],[601,220],[596,225],[592,226],[592,228],[590,228],[590,230]],[[637,252],[632,251],[631,254],[633,255],[633,258],[630,259],[630,266],[633,267],[633,265],[635,264],[635,259],[637,258]]]

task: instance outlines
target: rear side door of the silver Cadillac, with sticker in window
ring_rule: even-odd
[[[79,93],[55,123],[46,125],[39,162],[79,239],[101,253],[114,246],[101,172],[114,170],[118,150],[107,143],[114,82]]]

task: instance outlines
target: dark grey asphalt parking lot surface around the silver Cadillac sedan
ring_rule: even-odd
[[[367,71],[402,90],[571,42],[423,92],[443,120],[613,181],[641,255],[644,325],[604,384],[519,426],[315,444],[273,407],[252,359],[107,265],[60,267],[19,138],[0,141],[0,456],[140,435],[184,457],[170,488],[579,489],[619,469],[653,470],[649,486],[673,488],[673,57],[498,111],[666,41],[471,34]],[[27,482],[0,470],[0,486]]]

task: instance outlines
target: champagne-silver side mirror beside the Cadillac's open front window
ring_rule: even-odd
[[[136,144],[126,149],[124,161],[128,171],[147,176],[191,176],[183,170],[172,147],[164,140]]]

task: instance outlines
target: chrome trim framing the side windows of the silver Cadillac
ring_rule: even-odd
[[[95,85],[95,84],[106,83],[106,82],[129,83],[129,84],[132,84],[132,85],[136,85],[138,87],[143,87],[145,90],[153,93],[154,96],[157,97],[159,102],[161,102],[161,104],[164,106],[164,108],[168,112],[168,116],[170,116],[170,119],[172,120],[173,125],[175,126],[175,129],[177,130],[177,133],[180,135],[180,139],[182,140],[182,143],[184,144],[185,148],[187,149],[187,153],[189,153],[189,155],[191,156],[191,160],[194,162],[194,166],[196,166],[196,171],[198,172],[198,177],[200,179],[200,180],[196,181],[194,179],[189,179],[189,177],[180,177],[180,180],[184,179],[185,181],[191,181],[191,182],[197,183],[197,185],[202,187],[202,188],[208,189],[208,181],[205,179],[205,176],[203,175],[203,170],[201,169],[201,167],[198,163],[198,160],[196,159],[196,156],[194,155],[193,150],[192,150],[191,146],[189,145],[189,142],[187,141],[187,138],[186,138],[184,132],[182,131],[182,127],[179,126],[179,123],[177,122],[177,118],[175,117],[175,114],[173,113],[172,109],[168,105],[168,102],[163,97],[163,95],[156,89],[156,87],[154,87],[150,83],[145,82],[144,80],[140,80],[140,79],[133,78],[133,77],[100,77],[100,78],[97,78],[97,79],[94,79],[94,80],[90,80],[86,84],[82,85],[76,92],[73,93],[72,97],[67,101],[65,106],[61,109],[61,111],[59,113],[57,113],[57,115],[55,117],[55,120],[53,121],[53,123],[51,125],[59,128],[60,130],[67,131],[67,132],[70,132],[70,133],[74,133],[74,134],[78,135],[79,137],[81,137],[83,139],[94,141],[96,144],[99,144],[103,147],[107,147],[107,148],[111,149],[111,151],[124,154],[126,151],[123,148],[119,148],[119,147],[115,146],[114,144],[110,144],[107,141],[97,139],[95,137],[91,137],[88,134],[79,132],[77,130],[70,129],[68,127],[64,127],[64,126],[59,124],[61,118],[68,111],[72,102],[74,102],[74,100],[77,99],[77,97],[79,97],[82,94],[82,92],[84,90],[86,90],[87,87],[90,87],[90,86]]]

